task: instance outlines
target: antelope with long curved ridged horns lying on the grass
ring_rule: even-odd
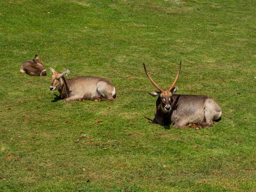
[[[212,98],[204,95],[173,94],[179,87],[175,85],[180,76],[181,61],[175,80],[169,89],[160,88],[148,74],[145,64],[143,65],[150,82],[159,90],[159,92],[148,92],[153,97],[158,96],[152,123],[173,125],[173,128],[201,129],[211,127],[216,120],[220,120],[220,106]]]

